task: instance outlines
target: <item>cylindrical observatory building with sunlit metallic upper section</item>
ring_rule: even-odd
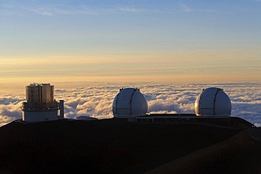
[[[63,100],[54,99],[54,85],[32,83],[25,87],[23,121],[41,122],[63,119]]]

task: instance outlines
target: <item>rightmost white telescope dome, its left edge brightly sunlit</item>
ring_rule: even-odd
[[[195,101],[195,113],[197,116],[229,117],[231,101],[223,89],[203,89]]]

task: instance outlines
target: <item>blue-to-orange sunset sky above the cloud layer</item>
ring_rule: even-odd
[[[2,89],[261,82],[261,1],[0,1]]]

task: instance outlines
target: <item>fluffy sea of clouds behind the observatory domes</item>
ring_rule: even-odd
[[[220,87],[232,102],[231,116],[261,125],[261,85],[258,83],[144,85],[95,84],[77,88],[56,89],[55,98],[64,100],[66,118],[90,116],[112,118],[112,101],[121,87],[138,87],[147,99],[150,113],[194,113],[194,103],[202,89]],[[0,96],[0,126],[22,118],[25,94]]]

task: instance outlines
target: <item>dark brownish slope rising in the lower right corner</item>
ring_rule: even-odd
[[[243,130],[224,142],[195,151],[147,173],[261,173],[260,154],[260,142],[250,138],[249,130]]]

